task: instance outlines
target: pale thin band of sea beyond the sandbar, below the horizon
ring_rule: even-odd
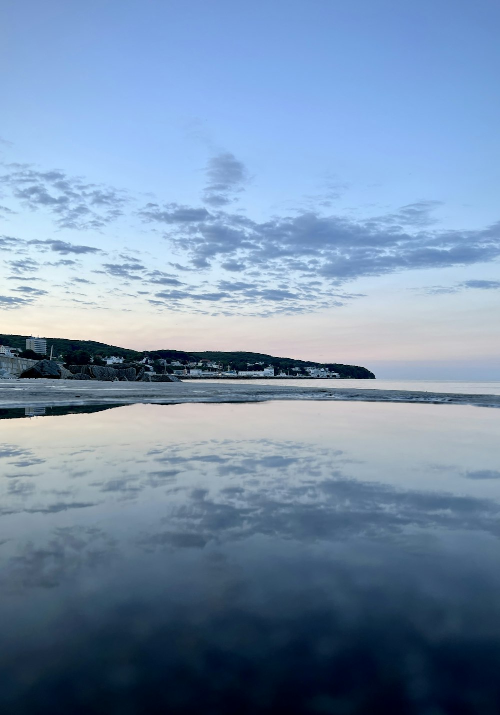
[[[196,380],[198,383],[213,383]],[[242,380],[224,380],[225,383],[240,384]],[[251,385],[285,385],[302,388],[360,388],[361,390],[419,390],[427,393],[459,393],[467,395],[500,395],[500,380],[245,380]],[[245,384],[244,383],[244,384]]]

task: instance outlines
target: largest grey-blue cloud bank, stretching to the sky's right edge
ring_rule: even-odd
[[[229,260],[261,275],[300,271],[339,285],[360,277],[404,270],[473,265],[500,257],[500,225],[479,231],[418,231],[315,213],[256,223],[219,214],[196,230],[171,237],[195,267]]]

